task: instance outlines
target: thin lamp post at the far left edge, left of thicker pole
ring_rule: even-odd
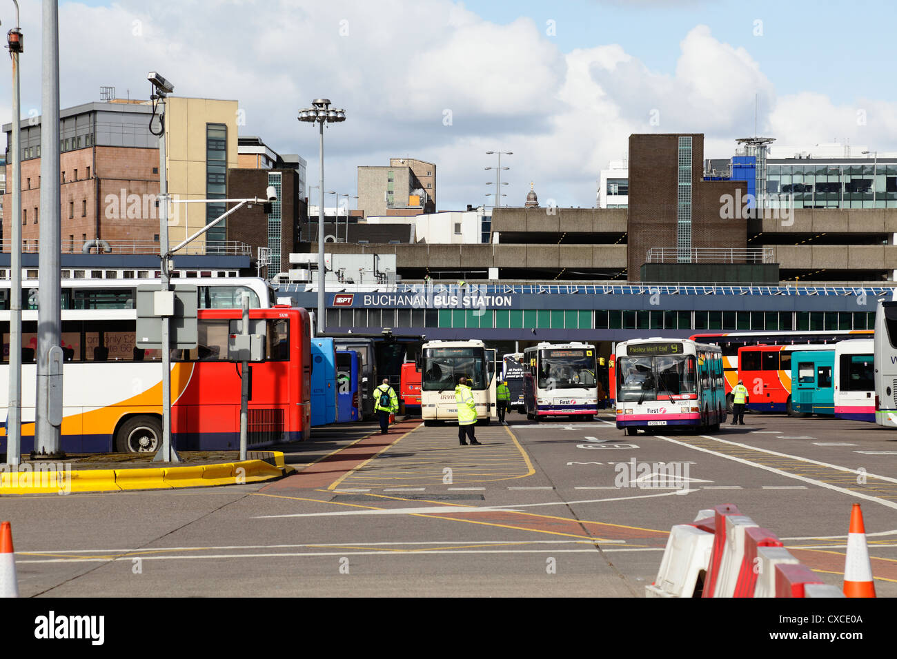
[[[13,242],[9,248],[11,265],[9,292],[9,409],[6,412],[6,464],[18,465],[22,455],[22,147],[20,123],[22,104],[19,97],[19,53],[24,50],[22,30],[19,29],[19,3],[15,4],[15,28],[6,34],[9,55],[13,58],[13,133],[10,151],[13,153],[11,186],[13,214],[10,229]]]

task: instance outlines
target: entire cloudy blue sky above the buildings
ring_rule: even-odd
[[[27,116],[39,0],[21,4]],[[348,116],[327,132],[327,188],[354,194],[357,166],[410,154],[437,164],[440,210],[483,203],[489,150],[515,153],[501,163],[509,204],[534,181],[574,206],[595,204],[631,133],[701,132],[705,157],[730,156],[754,132],[755,93],[758,131],[779,143],[897,152],[887,2],[85,0],[60,16],[64,107],[100,85],[145,96],[158,70],[179,95],[239,100],[240,134],[317,172],[316,133],[295,117],[326,96]],[[13,22],[12,4],[0,18]],[[4,121],[8,108],[0,84]]]

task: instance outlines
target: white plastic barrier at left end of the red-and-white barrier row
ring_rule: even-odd
[[[666,539],[658,577],[645,586],[645,596],[692,597],[698,577],[707,572],[712,549],[713,533],[692,525],[675,525]]]

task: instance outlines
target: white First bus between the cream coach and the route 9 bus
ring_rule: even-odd
[[[597,351],[588,343],[539,343],[523,351],[527,419],[598,412]]]

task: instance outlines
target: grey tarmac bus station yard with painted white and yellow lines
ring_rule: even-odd
[[[735,504],[825,583],[861,503],[879,597],[897,594],[897,433],[752,414],[627,437],[610,417],[321,429],[297,473],[228,488],[0,501],[22,595],[641,597],[672,525]],[[658,482],[658,465],[675,465]]]

